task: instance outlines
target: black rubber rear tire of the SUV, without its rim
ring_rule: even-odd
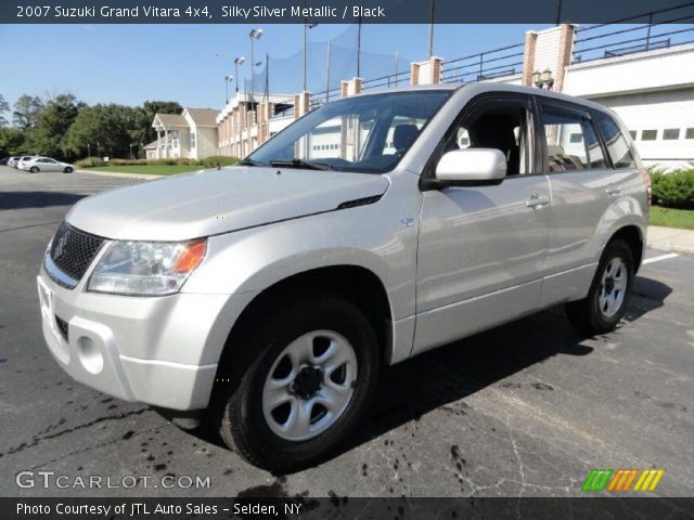
[[[615,259],[624,262],[626,271],[626,288],[624,289],[624,298],[616,312],[606,315],[604,309],[601,309],[600,297],[602,292],[602,280],[605,270]],[[633,285],[634,264],[633,255],[629,245],[620,239],[614,239],[607,244],[603,251],[593,283],[591,284],[588,296],[579,301],[571,301],[566,304],[566,316],[568,321],[581,333],[588,336],[604,334],[614,330],[619,321],[624,317],[631,297],[631,287]]]

